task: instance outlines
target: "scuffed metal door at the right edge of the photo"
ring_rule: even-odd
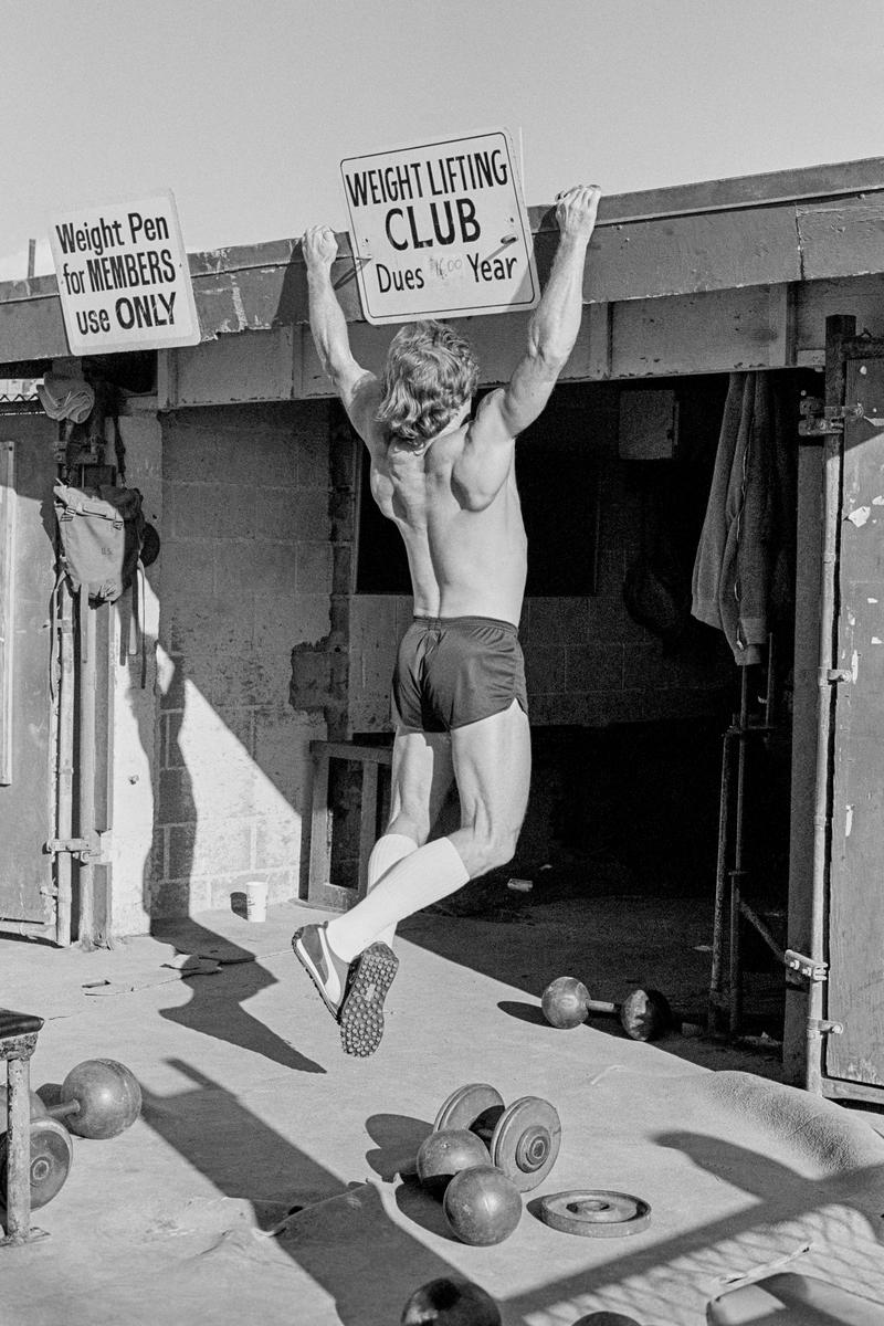
[[[846,350],[824,1070],[884,1087],[884,358]]]

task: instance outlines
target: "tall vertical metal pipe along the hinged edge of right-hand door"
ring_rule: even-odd
[[[844,403],[844,365],[842,342],[856,334],[856,318],[826,318],[826,404]],[[823,558],[819,594],[819,699],[816,707],[816,781],[814,792],[814,869],[811,874],[808,949],[823,960],[826,884],[828,879],[831,740],[835,688],[828,672],[835,666],[838,650],[836,578],[838,534],[843,471],[843,438],[827,434],[823,448]],[[804,1086],[822,1095],[823,1042],[819,1022],[823,1017],[823,985],[811,981],[807,991],[807,1057]]]

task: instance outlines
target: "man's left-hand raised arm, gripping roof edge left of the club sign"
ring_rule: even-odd
[[[368,443],[378,408],[378,379],[360,367],[350,349],[347,320],[331,285],[338,241],[327,225],[311,225],[301,241],[307,268],[310,330],[323,370],[341,396],[357,432]]]

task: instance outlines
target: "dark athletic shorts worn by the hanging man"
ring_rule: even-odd
[[[399,643],[392,697],[408,728],[451,732],[509,709],[527,713],[518,631],[490,617],[416,617]]]

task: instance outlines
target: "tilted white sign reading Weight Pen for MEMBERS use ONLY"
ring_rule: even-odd
[[[49,223],[49,244],[73,355],[199,342],[170,191],[64,212]]]

